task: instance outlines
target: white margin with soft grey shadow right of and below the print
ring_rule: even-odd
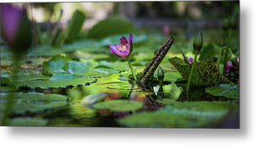
[[[10,2],[9,0],[1,0]],[[20,2],[12,0],[11,2]],[[31,1],[23,1],[31,2]],[[38,2],[34,0],[32,2]],[[58,1],[49,1],[58,2]],[[61,1],[62,2],[62,1]],[[64,1],[70,2],[70,1]],[[77,1],[81,2],[81,1]],[[93,1],[96,2],[96,1]],[[102,1],[101,1],[102,2]],[[108,2],[108,1],[106,1]],[[3,145],[71,144],[254,144],[255,130],[255,3],[241,0],[241,129],[124,129],[67,127],[0,127]]]

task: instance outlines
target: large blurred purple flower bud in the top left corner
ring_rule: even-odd
[[[9,3],[1,4],[1,31],[13,53],[20,55],[32,45],[32,29],[26,16],[26,8]]]

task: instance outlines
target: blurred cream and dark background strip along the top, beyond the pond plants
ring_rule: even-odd
[[[86,15],[84,30],[100,20],[120,15],[136,27],[221,27],[222,20],[239,12],[239,1],[226,2],[119,2],[119,3],[31,3],[33,19],[38,23],[67,24],[79,9]],[[28,14],[31,15],[31,10]],[[45,25],[42,25],[44,27]]]

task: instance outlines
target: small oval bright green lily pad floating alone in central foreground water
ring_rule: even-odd
[[[116,112],[127,112],[143,108],[143,103],[128,100],[111,100],[93,105],[95,109],[108,109]]]

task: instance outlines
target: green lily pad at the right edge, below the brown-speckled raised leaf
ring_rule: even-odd
[[[225,98],[239,99],[238,86],[221,84],[220,86],[207,87],[206,92],[212,96],[224,96]]]

